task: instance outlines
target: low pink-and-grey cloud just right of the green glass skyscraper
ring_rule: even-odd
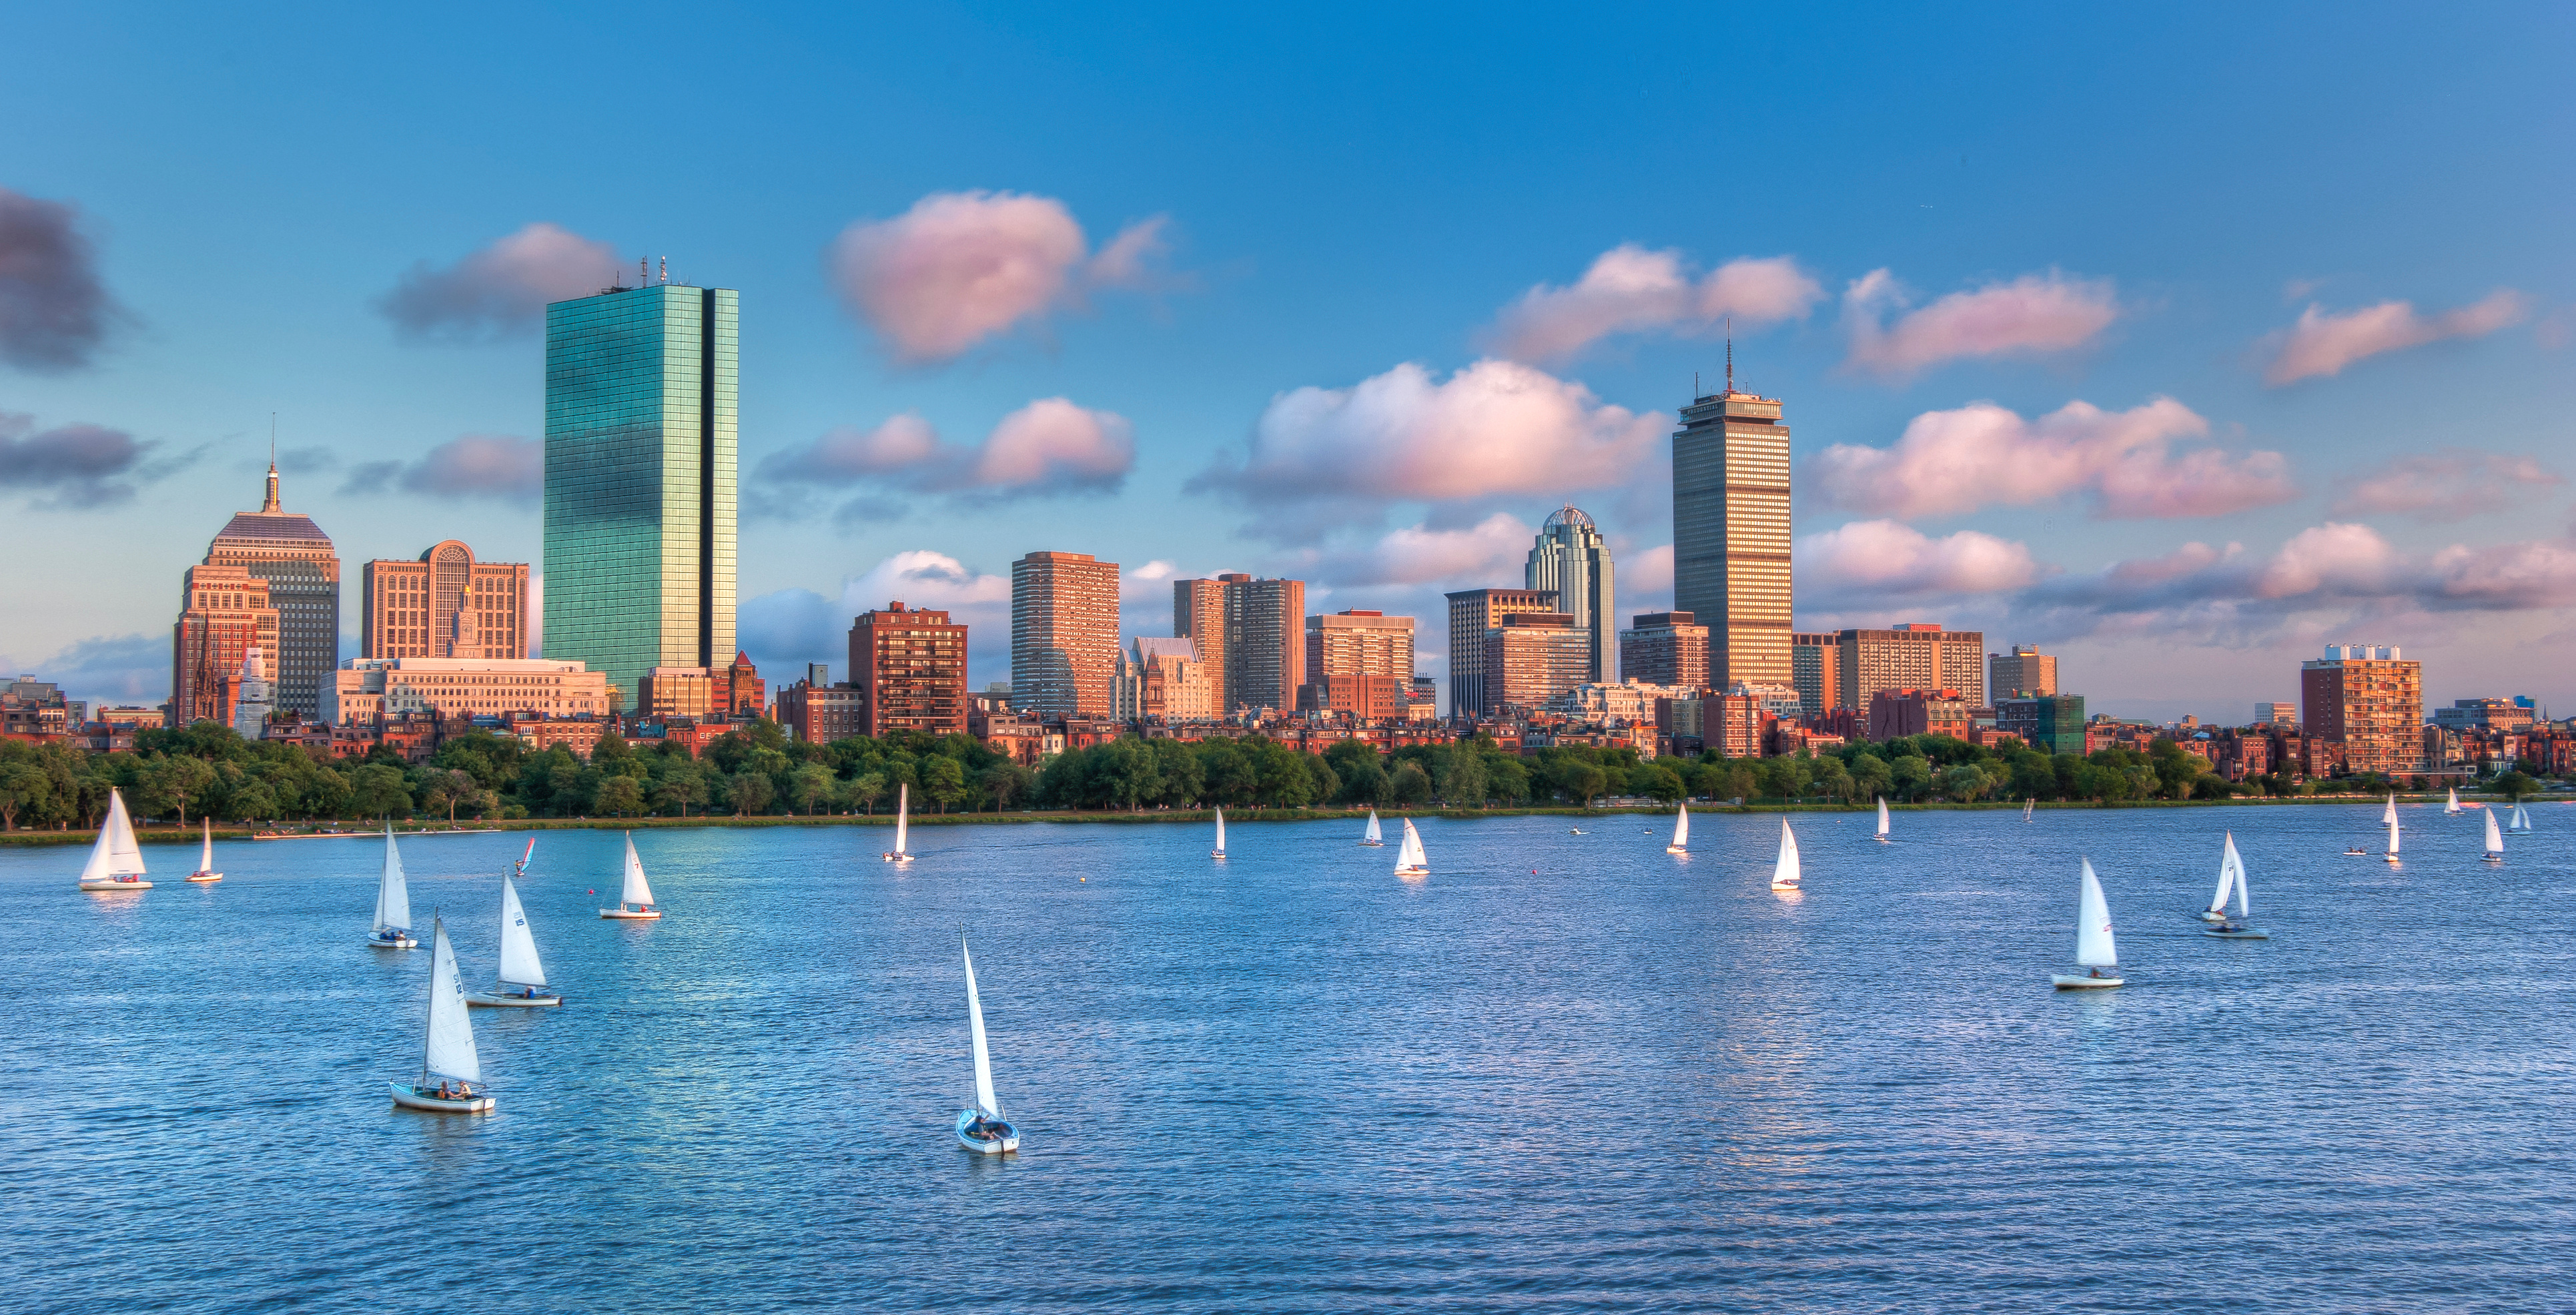
[[[1110,492],[1131,469],[1136,431],[1123,415],[1041,397],[1005,415],[976,446],[943,443],[914,413],[868,431],[835,428],[801,449],[765,456],[755,482],[775,511],[793,513],[806,505],[799,492],[809,487],[873,482],[886,492],[1043,498]]]

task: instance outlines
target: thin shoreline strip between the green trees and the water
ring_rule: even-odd
[[[2280,799],[2123,799],[2117,804],[2092,804],[2092,802],[2043,802],[2040,812],[2115,812],[2138,807],[2313,807],[2313,804],[2367,804],[2367,794],[2295,794]],[[2439,794],[2398,794],[2401,804],[2437,804]],[[2545,797],[2540,802],[2548,802]],[[2576,802],[2576,799],[2563,799]],[[2468,807],[2512,807],[2504,799],[2463,799]],[[1692,799],[1692,812],[1873,812],[1878,804],[1834,804],[1834,802],[1795,802],[1795,799],[1754,799],[1744,804],[1713,804]],[[1919,802],[1919,804],[1888,804],[1891,812],[2007,812],[2020,810],[2020,802]],[[1419,810],[1391,810],[1381,807],[1381,817],[1667,817],[1669,804],[1615,804],[1615,807],[1419,807]],[[1028,823],[1092,823],[1092,825],[1159,825],[1159,823],[1195,823],[1206,825],[1216,817],[1213,810],[1023,810],[1023,812],[914,812],[912,825],[917,828],[953,828],[953,825],[1028,825]],[[1368,807],[1340,810],[1340,807],[1252,807],[1226,815],[1231,823],[1358,823],[1368,817]],[[822,815],[822,817],[515,817],[515,820],[459,820],[453,828],[443,823],[428,823],[417,828],[394,828],[399,838],[435,838],[435,835],[502,835],[502,833],[538,833],[538,830],[703,830],[703,828],[891,828],[894,815]],[[232,825],[214,828],[219,841],[263,841],[255,828]],[[374,841],[384,830],[350,828],[337,833],[294,830],[281,835],[265,835],[265,841]],[[180,825],[137,825],[137,843],[144,846],[193,846],[201,830]],[[88,846],[98,841],[98,830],[5,830],[0,833],[0,846],[18,848],[62,848],[62,846]]]

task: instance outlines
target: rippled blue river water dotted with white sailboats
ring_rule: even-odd
[[[379,846],[0,851],[15,1310],[2537,1310],[2576,1302],[2576,810],[670,830],[523,887],[562,1011],[394,1111]],[[2210,941],[2218,830],[2272,941]],[[495,959],[523,838],[404,846]],[[2092,853],[2130,985],[2058,995]],[[969,931],[1023,1155],[948,1132]]]

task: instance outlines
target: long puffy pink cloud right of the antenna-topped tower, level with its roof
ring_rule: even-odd
[[[2069,402],[2025,420],[1994,402],[1927,410],[1896,446],[1837,443],[1808,462],[1829,505],[1896,518],[1960,516],[2089,492],[2110,518],[2228,516],[2298,495],[2277,451],[2174,451],[2210,423],[2172,397],[2130,410]]]

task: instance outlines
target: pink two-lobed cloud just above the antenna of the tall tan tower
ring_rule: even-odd
[[[1566,361],[1615,333],[1705,333],[1795,320],[1824,289],[1788,255],[1739,258],[1692,278],[1677,250],[1605,250],[1574,286],[1538,284],[1502,309],[1486,338],[1512,361]]]

